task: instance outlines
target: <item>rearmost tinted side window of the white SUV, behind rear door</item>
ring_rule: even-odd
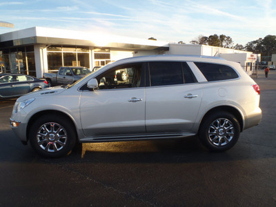
[[[214,63],[195,63],[195,65],[206,77],[207,81],[221,81],[239,77],[237,72],[229,66]]]

